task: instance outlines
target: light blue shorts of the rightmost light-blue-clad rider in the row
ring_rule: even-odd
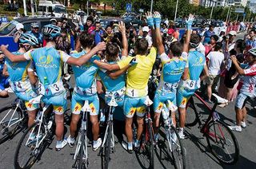
[[[196,89],[186,89],[183,87],[178,88],[177,91],[177,106],[179,108],[186,108],[186,104],[188,100],[190,100],[190,96],[194,95]]]

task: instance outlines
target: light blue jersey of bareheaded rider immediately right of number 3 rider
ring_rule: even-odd
[[[86,54],[86,51],[83,50],[80,53],[73,52],[71,56],[78,58],[85,54]],[[90,60],[86,62],[86,64],[82,66],[75,66],[75,65],[72,66],[76,85],[78,87],[90,88],[93,85],[96,74],[98,72],[98,66],[94,64],[94,60],[100,60],[100,57],[94,55],[94,57],[91,57]]]

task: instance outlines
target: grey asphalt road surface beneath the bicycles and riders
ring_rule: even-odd
[[[242,34],[238,35],[242,37]],[[5,99],[0,99],[0,108],[10,104],[14,100],[14,94]],[[186,128],[187,139],[183,140],[182,143],[186,147],[186,167],[187,168],[256,168],[256,110],[252,106],[256,105],[255,101],[249,101],[246,104],[248,109],[248,116],[246,120],[247,127],[242,130],[241,133],[235,132],[235,136],[238,140],[240,147],[240,156],[238,163],[234,166],[222,165],[210,154],[208,150],[206,139],[202,137],[199,132],[198,126],[193,128]],[[201,104],[197,104],[198,110],[202,111]],[[229,104],[226,108],[218,108],[220,112],[221,120],[226,124],[234,124],[235,112],[234,103]],[[70,111],[68,111],[70,113]],[[206,118],[206,116],[204,116]],[[124,124],[124,123],[122,123]],[[115,131],[121,128],[121,125],[114,127]],[[66,136],[69,135],[69,126],[66,125]],[[12,140],[7,140],[5,143],[0,145],[0,169],[14,168],[14,151],[17,147],[18,140],[20,140],[22,132],[18,133],[17,136]],[[123,136],[125,138],[125,136]],[[118,141],[118,139],[116,138]],[[42,157],[38,160],[33,168],[72,168],[74,160],[72,159],[75,151],[75,147],[71,148],[66,146],[62,151],[55,151],[55,140],[50,144],[50,147],[43,152]],[[156,152],[158,154],[159,151]],[[174,168],[170,163],[167,163],[163,158],[155,156],[155,168]],[[98,151],[94,152],[89,147],[89,167],[90,168],[101,168],[101,159],[98,156]],[[120,143],[116,144],[116,151],[111,154],[110,168],[145,168],[148,167],[148,163],[143,155],[128,154],[123,150]]]

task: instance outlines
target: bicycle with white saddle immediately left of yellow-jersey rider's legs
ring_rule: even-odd
[[[107,95],[106,95],[107,96]],[[102,156],[102,168],[108,168],[110,163],[110,153],[115,151],[114,147],[114,128],[113,128],[113,112],[114,107],[117,107],[118,104],[114,99],[114,93],[110,92],[111,100],[108,103],[109,105],[109,115],[108,120],[106,121],[106,132],[102,142],[102,148],[99,152]]]

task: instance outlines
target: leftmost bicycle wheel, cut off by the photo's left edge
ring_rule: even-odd
[[[0,109],[0,144],[13,136],[22,122],[22,110],[14,112],[15,108],[10,105]]]

